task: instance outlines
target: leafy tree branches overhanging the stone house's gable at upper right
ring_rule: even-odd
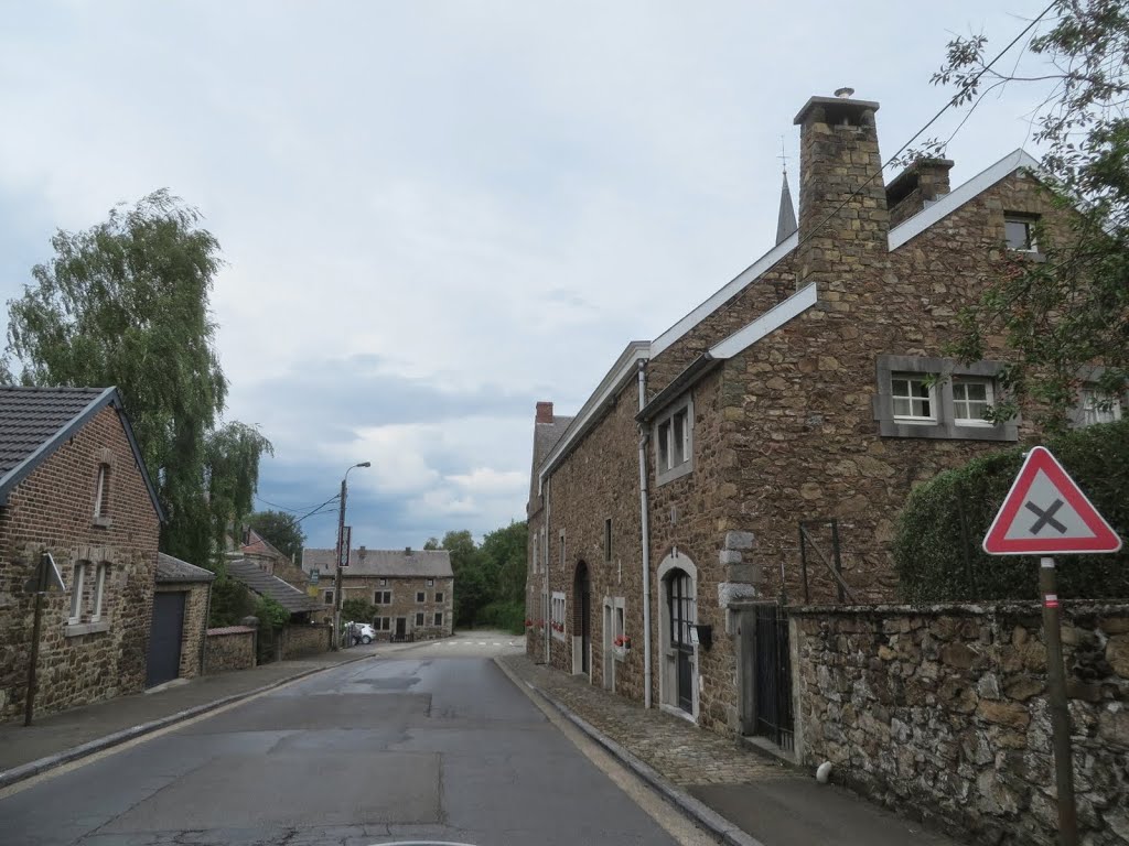
[[[983,35],[949,42],[935,85],[955,88],[953,103],[974,109],[1005,87],[1038,87],[1033,121],[1043,180],[1069,208],[1064,243],[1040,238],[1045,261],[1017,257],[961,316],[951,352],[982,359],[986,340],[1006,338],[1010,398],[995,415],[1030,409],[1051,431],[1066,426],[1083,380],[1120,395],[1129,376],[1129,3],[1059,0],[1032,27],[1026,50],[1038,70],[1000,69],[986,56]],[[944,142],[926,144],[930,155]],[[1036,233],[1038,235],[1038,233]]]

